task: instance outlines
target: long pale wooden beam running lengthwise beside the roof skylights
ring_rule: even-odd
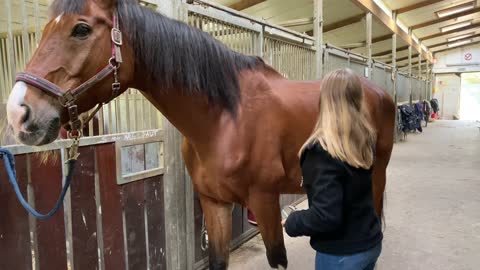
[[[425,52],[419,43],[417,43],[411,35],[403,31],[383,9],[378,6],[374,0],[352,0],[361,9],[366,12],[371,12],[383,25],[385,25],[390,31],[403,39],[408,45],[411,45],[417,52],[421,52],[425,59],[432,61],[432,57],[429,53]],[[391,35],[390,35],[391,38]]]

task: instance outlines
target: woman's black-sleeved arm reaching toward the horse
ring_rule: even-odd
[[[292,237],[334,231],[342,224],[340,181],[346,175],[345,167],[318,146],[307,151],[302,171],[305,188],[311,195],[310,207],[287,218],[285,231]]]

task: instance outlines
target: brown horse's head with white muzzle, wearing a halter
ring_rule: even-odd
[[[78,105],[79,113],[112,98],[114,72],[108,68],[109,59],[112,49],[119,49],[119,44],[112,46],[115,14],[115,0],[56,0],[52,4],[51,20],[40,44],[8,99],[8,124],[18,141],[42,145],[58,137],[60,127],[69,121],[66,100],[61,97],[68,90],[81,92],[70,102]],[[133,73],[133,56],[125,45],[118,72],[121,90]],[[105,70],[108,74],[99,76]],[[79,88],[92,78],[99,79]],[[49,89],[42,87],[45,84]]]

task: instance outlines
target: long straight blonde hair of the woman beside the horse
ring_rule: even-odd
[[[369,169],[376,130],[365,106],[360,78],[350,69],[335,70],[323,78],[320,114],[312,135],[300,150],[318,142],[334,158],[355,168]]]

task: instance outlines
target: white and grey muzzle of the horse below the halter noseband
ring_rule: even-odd
[[[27,145],[42,145],[58,137],[60,117],[48,99],[35,98],[24,82],[15,83],[7,102],[7,121],[15,139]],[[35,107],[27,98],[35,98]],[[31,100],[30,100],[31,101]],[[55,131],[55,129],[57,131]]]

